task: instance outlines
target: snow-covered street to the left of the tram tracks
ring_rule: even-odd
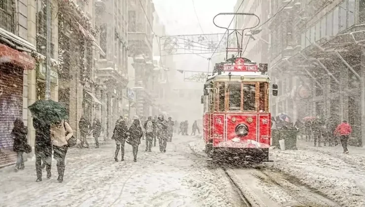
[[[187,144],[194,139],[177,136],[168,142],[166,153],[160,153],[158,146],[145,152],[142,143],[137,163],[128,144],[123,162],[114,161],[113,142],[99,149],[69,149],[63,183],[56,180],[55,160],[52,178],[47,180],[43,171],[39,183],[34,161],[26,162],[26,169],[17,173],[13,166],[0,169],[0,206],[239,207],[215,187],[219,175],[208,176],[198,166],[200,158]]]

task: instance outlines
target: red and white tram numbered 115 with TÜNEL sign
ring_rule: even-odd
[[[260,70],[267,64],[260,64]],[[216,64],[204,84],[203,138],[213,159],[268,161],[271,145],[270,78],[256,63],[231,58]],[[265,69],[264,69],[265,70]],[[277,95],[277,85],[273,85]]]

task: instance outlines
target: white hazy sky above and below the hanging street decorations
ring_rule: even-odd
[[[215,15],[233,12],[237,0],[194,0],[196,13],[205,34],[224,33],[213,24]],[[166,35],[202,34],[192,0],[153,0],[160,21],[166,26]],[[217,23],[228,26],[232,16],[217,18]],[[160,35],[160,34],[157,34]],[[211,55],[205,54],[205,57]],[[177,69],[207,71],[208,61],[197,55],[175,55]],[[213,64],[210,65],[210,71]]]

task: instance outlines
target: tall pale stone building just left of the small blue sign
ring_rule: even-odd
[[[95,1],[95,24],[100,29],[99,45],[105,54],[96,56],[95,89],[101,101],[95,114],[106,136],[114,128],[116,120],[123,115],[123,91],[128,84],[128,1]]]

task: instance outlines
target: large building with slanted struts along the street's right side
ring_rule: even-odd
[[[275,113],[324,116],[353,126],[364,145],[364,0],[271,1],[270,69],[279,85]]]

